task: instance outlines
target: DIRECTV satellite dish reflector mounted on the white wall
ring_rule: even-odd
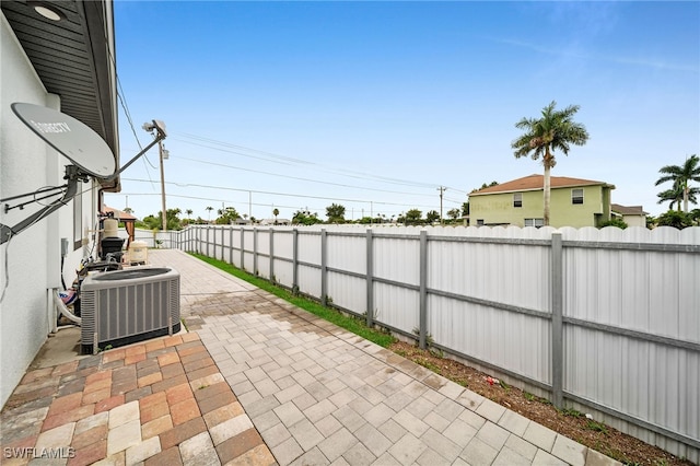
[[[52,108],[19,102],[12,104],[12,112],[83,173],[107,178],[116,171],[109,145],[84,123]]]

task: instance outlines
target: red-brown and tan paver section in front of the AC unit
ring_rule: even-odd
[[[30,371],[0,422],[3,465],[275,464],[196,333]]]

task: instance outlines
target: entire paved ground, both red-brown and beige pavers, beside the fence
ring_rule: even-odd
[[[149,259],[180,272],[190,333],[28,371],[3,465],[616,464],[182,252]]]

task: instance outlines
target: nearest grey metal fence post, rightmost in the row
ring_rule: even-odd
[[[563,408],[563,255],[561,233],[551,235],[551,394]]]

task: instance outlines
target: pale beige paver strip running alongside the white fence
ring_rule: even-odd
[[[616,463],[182,252],[152,261],[188,277],[186,322],[280,465]]]

